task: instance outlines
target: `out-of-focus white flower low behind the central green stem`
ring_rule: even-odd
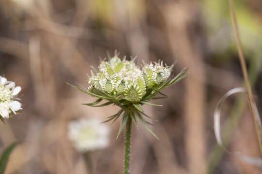
[[[102,149],[109,145],[109,128],[96,118],[71,121],[68,138],[81,152]]]

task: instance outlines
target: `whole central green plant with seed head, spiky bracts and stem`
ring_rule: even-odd
[[[129,174],[132,122],[138,127],[137,120],[140,120],[147,131],[158,139],[150,130],[150,123],[145,119],[145,117],[153,118],[144,113],[143,105],[161,106],[150,101],[166,98],[167,96],[161,92],[162,89],[170,87],[185,77],[186,68],[176,76],[171,75],[172,68],[173,65],[164,65],[163,61],[144,63],[139,67],[135,64],[134,58],[131,60],[120,59],[116,53],[108,60],[101,60],[98,69],[91,72],[87,90],[69,84],[97,98],[95,102],[84,103],[84,105],[102,107],[113,104],[121,108],[104,122],[115,122],[118,118],[122,119],[116,138],[119,137],[126,125],[124,174]],[[156,97],[157,94],[160,97]],[[103,100],[107,102],[100,104]]]

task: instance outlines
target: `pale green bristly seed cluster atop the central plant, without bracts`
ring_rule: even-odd
[[[99,72],[89,79],[89,90],[97,89],[115,96],[123,94],[124,99],[138,102],[152,89],[163,83],[170,76],[172,67],[163,66],[163,62],[144,65],[142,70],[134,60],[121,60],[115,55],[109,61],[101,61]]]

